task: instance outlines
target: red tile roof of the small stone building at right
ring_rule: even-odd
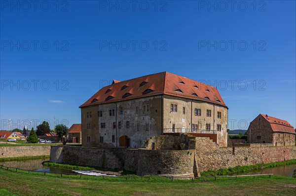
[[[268,115],[260,115],[270,123],[273,132],[285,132],[296,134],[294,127],[288,121],[279,118],[269,117]]]

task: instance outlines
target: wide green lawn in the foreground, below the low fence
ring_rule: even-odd
[[[295,178],[261,176],[174,180],[105,178],[13,172],[0,169],[0,195],[17,196],[295,196]]]

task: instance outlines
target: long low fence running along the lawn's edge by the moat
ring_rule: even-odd
[[[75,175],[75,176],[80,175],[80,179],[82,178],[83,175],[84,176],[89,176],[89,175],[86,175],[86,174],[77,174],[77,173],[58,173],[58,172],[49,172],[49,171],[33,171],[33,170],[21,169],[21,168],[16,168],[16,167],[6,167],[6,166],[3,166],[3,165],[0,165],[1,169],[3,169],[3,167],[5,167],[6,170],[8,170],[9,168],[10,169],[15,169],[16,172],[17,172],[17,170],[28,171],[28,174],[30,174],[30,172],[44,173],[44,176],[46,175],[46,173],[59,174],[59,175],[61,175],[61,177],[63,177],[63,175]],[[177,176],[157,176],[157,177],[169,178],[169,179],[171,179],[171,181],[173,181],[175,179],[175,180],[191,180],[193,182],[195,179],[203,179],[203,178],[214,178],[215,177],[215,180],[217,180],[218,177],[235,177],[235,179],[237,179],[237,177],[254,176],[254,178],[255,178],[255,176],[266,176],[266,175],[269,175],[269,178],[270,178],[271,175],[273,175],[273,174],[254,174],[254,175],[240,175],[240,176],[203,176],[203,177],[177,177]],[[98,176],[95,176],[95,177],[98,177]],[[103,177],[103,180],[105,178],[108,178],[108,177],[111,178],[111,176],[108,176],[108,175],[100,176],[100,177]],[[138,179],[139,178],[142,178],[142,179],[147,178],[147,180],[149,181],[150,178],[152,178],[152,176],[121,176],[121,178],[124,178],[125,180],[134,179],[134,178],[138,178]]]

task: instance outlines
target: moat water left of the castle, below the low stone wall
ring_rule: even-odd
[[[42,165],[43,161],[49,161],[49,159],[4,161],[4,162],[0,162],[0,165],[32,170],[32,171],[40,171],[40,172],[46,171],[46,172],[56,172],[56,173],[74,173],[70,169],[44,166]]]

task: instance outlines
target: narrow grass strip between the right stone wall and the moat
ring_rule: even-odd
[[[269,168],[269,167],[277,167],[277,166],[290,165],[290,164],[296,164],[296,159],[271,162],[271,163],[259,163],[255,165],[236,166],[236,167],[229,167],[229,168],[219,169],[219,170],[209,170],[209,171],[200,173],[200,175],[201,176],[223,176],[223,175],[231,175],[231,174],[256,170],[262,167]]]

